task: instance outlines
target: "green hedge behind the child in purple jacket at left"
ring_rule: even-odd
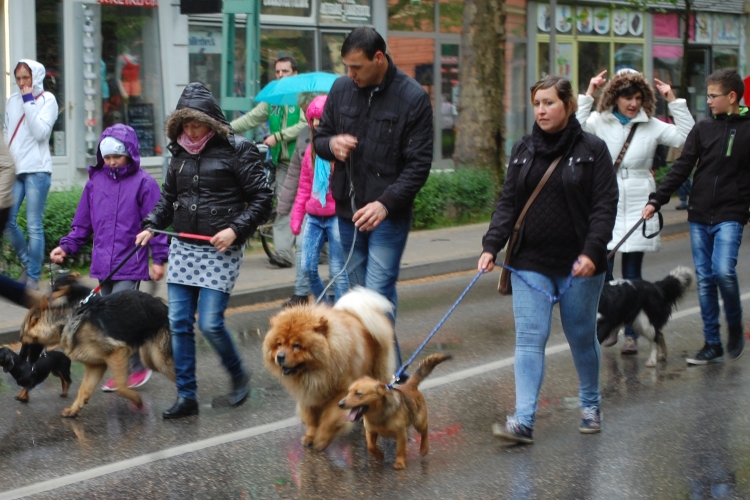
[[[73,187],[62,191],[50,191],[47,197],[47,205],[44,209],[44,260],[49,261],[49,253],[57,247],[60,239],[70,232],[70,223],[78,208],[78,202],[83,193],[82,187]],[[18,227],[26,234],[26,202],[18,211]],[[76,266],[87,266],[91,262],[91,245],[81,248],[76,255]],[[16,252],[7,241],[3,239],[0,247],[0,269],[4,273],[18,275],[21,272],[21,263],[18,261]]]

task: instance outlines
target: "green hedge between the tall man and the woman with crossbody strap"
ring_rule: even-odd
[[[498,191],[489,169],[433,172],[414,200],[414,229],[487,220]]]

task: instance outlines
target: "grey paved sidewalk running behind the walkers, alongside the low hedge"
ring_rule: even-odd
[[[675,210],[676,203],[664,207],[664,229],[662,236],[683,233],[688,230],[687,212]],[[409,234],[406,250],[401,260],[399,281],[426,278],[458,271],[476,269],[482,251],[482,236],[488,223],[472,224],[428,231],[413,231]],[[235,285],[229,307],[240,307],[291,297],[294,291],[294,268],[270,269],[265,254],[247,255]],[[321,276],[328,276],[327,266],[321,266]],[[91,287],[97,282],[86,278]],[[49,285],[42,283],[42,290]],[[152,292],[150,283],[142,283],[141,290]],[[155,295],[167,297],[164,282],[156,284]],[[26,310],[0,301],[0,344],[18,339],[18,328]]]

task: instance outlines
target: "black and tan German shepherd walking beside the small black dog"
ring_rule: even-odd
[[[74,288],[71,286],[71,290]],[[136,290],[93,296],[80,305],[70,300],[50,305],[45,297],[26,314],[21,342],[59,344],[71,360],[85,366],[78,397],[63,410],[64,417],[78,415],[107,368],[112,371],[118,394],[141,408],[140,396],[127,385],[128,359],[136,350],[147,367],[175,380],[167,306]]]

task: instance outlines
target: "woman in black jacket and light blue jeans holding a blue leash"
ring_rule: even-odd
[[[560,318],[578,373],[582,433],[601,430],[596,313],[607,270],[607,242],[617,213],[617,183],[606,144],[584,132],[574,113],[570,82],[548,76],[531,88],[536,123],[513,147],[505,183],[482,239],[478,268],[492,271],[521,211],[556,159],[529,207],[510,266],[516,322],[516,412],[493,434],[533,443],[534,417],[544,378],[544,349],[552,308]]]

